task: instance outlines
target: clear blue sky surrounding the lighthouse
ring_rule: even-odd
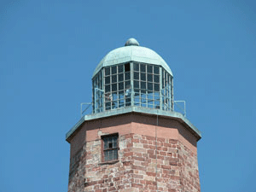
[[[102,57],[137,38],[202,132],[203,192],[255,192],[255,1],[0,1],[0,185],[67,191],[65,134]]]

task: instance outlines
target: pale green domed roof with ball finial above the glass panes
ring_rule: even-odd
[[[93,77],[102,69],[102,67],[113,66],[129,61],[159,65],[164,67],[166,71],[172,75],[171,68],[160,55],[155,53],[152,49],[139,46],[135,38],[130,38],[126,41],[125,47],[113,49],[102,59],[102,61],[96,67]]]

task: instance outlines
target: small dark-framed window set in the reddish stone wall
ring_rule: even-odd
[[[119,135],[107,135],[102,136],[102,161],[108,162],[112,160],[118,160],[118,150],[119,150]]]

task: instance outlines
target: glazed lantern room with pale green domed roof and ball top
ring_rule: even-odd
[[[134,38],[110,51],[93,74],[93,113],[131,106],[173,111],[173,104],[170,67],[154,50],[140,46]]]

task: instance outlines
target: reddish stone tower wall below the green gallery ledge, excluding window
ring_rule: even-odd
[[[116,125],[113,119],[89,123],[73,137],[68,192],[200,191],[196,142],[183,125],[159,119],[156,129],[146,116],[122,119],[127,116],[114,119]],[[104,163],[101,136],[114,132],[119,132],[119,160]]]

